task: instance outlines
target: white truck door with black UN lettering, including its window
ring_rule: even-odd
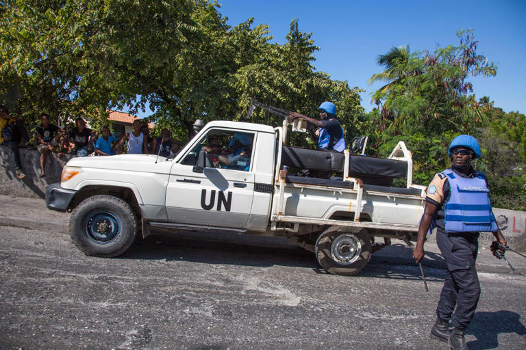
[[[166,188],[168,221],[244,228],[254,196],[255,133],[210,129],[171,168]],[[200,150],[207,167],[195,172]]]

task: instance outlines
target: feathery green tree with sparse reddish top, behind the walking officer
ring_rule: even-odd
[[[397,72],[396,83],[373,94],[381,103],[377,120],[380,154],[385,156],[404,139],[414,149],[414,178],[421,183],[449,166],[447,146],[455,135],[473,134],[476,128],[489,124],[489,107],[475,100],[468,77],[492,77],[497,67],[477,53],[471,31],[459,31],[457,36],[459,46],[440,47],[433,54],[414,52],[408,59],[393,60],[395,66],[389,71]]]

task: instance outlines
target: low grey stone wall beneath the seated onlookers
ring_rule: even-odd
[[[20,162],[25,178],[20,180],[14,172],[13,152],[10,148],[0,146],[0,194],[17,197],[45,198],[46,187],[58,183],[62,167],[68,162],[71,154],[62,159],[56,153],[49,154],[46,162],[46,177],[40,178],[40,153],[38,150],[20,148]]]

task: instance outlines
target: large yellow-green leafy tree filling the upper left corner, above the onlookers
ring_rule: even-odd
[[[174,57],[203,35],[196,21],[213,10],[188,0],[8,1],[2,83],[20,87],[16,110],[33,119],[42,109],[97,118],[108,107],[144,108],[136,96],[164,92]]]

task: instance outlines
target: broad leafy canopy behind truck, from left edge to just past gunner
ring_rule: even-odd
[[[197,118],[240,118],[251,98],[303,111],[331,99],[352,113],[350,121],[364,114],[358,88],[316,71],[318,47],[298,21],[285,44],[272,44],[266,25],[253,27],[249,18],[230,27],[218,7],[207,0],[5,1],[0,96],[32,120],[42,110],[104,119],[106,109],[150,106],[148,120],[180,137]]]

